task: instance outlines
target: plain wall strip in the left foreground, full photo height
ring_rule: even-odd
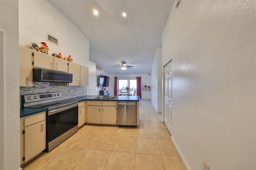
[[[18,1],[0,0],[0,169],[20,168]]]

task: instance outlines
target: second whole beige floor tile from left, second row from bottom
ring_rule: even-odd
[[[112,150],[116,143],[118,136],[101,135],[90,149],[95,150]]]

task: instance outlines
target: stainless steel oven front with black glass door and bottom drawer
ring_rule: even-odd
[[[49,110],[46,116],[46,151],[78,131],[78,103]]]

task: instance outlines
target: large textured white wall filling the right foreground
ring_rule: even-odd
[[[182,0],[162,34],[172,140],[188,169],[256,169],[256,3]]]

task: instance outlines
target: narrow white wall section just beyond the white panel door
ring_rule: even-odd
[[[162,47],[156,48],[151,69],[151,101],[158,113],[162,112]]]

